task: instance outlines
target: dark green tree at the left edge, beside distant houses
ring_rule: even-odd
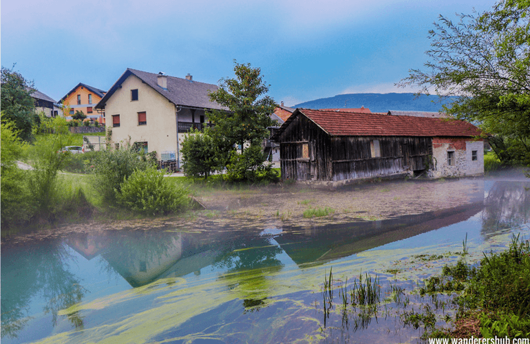
[[[1,67],[1,121],[11,121],[14,129],[19,132],[19,137],[30,141],[36,118],[35,104],[31,97],[33,83],[19,72],[14,72],[13,67]]]

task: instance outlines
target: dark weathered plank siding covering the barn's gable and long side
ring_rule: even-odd
[[[370,144],[379,142],[372,158]],[[279,136],[282,179],[348,180],[425,169],[432,138],[329,136],[298,114]]]

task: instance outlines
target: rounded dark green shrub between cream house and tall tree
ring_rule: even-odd
[[[182,141],[182,168],[184,173],[189,177],[204,178],[218,169],[219,149],[214,138],[209,134],[206,128],[204,134],[200,131],[190,131]]]

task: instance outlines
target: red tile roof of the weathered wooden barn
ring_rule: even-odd
[[[463,120],[360,114],[329,110],[297,109],[331,136],[479,136],[481,131]],[[292,121],[295,114],[290,117]],[[284,127],[282,125],[282,127]],[[280,129],[282,130],[282,129]]]

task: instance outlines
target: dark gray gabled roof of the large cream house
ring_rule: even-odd
[[[129,76],[134,75],[140,78],[144,83],[151,86],[156,92],[167,98],[171,103],[184,107],[196,107],[199,109],[226,109],[218,103],[211,102],[208,94],[215,92],[219,87],[217,85],[199,83],[198,81],[187,80],[186,78],[176,78],[167,76],[167,89],[158,85],[158,74],[142,72],[141,70],[127,68],[125,73],[112,85],[109,92],[100,100],[96,109],[103,109],[107,100],[112,97],[116,89]]]

